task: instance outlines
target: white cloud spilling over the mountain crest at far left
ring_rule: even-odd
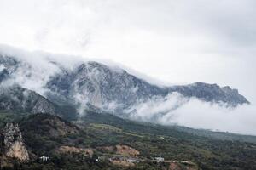
[[[3,44],[0,44],[0,56],[11,57],[18,62],[17,65],[12,65],[11,70],[14,74],[11,74],[2,85],[19,84],[21,87],[31,89],[41,95],[47,91],[44,87],[45,83],[49,81],[50,77],[61,72],[61,68],[73,69],[85,60],[79,56],[49,54],[40,51],[27,52]],[[3,71],[4,68],[4,65],[0,65],[0,71]]]

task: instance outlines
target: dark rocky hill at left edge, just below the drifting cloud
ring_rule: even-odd
[[[48,113],[68,119],[77,116],[77,111],[70,105],[56,105],[44,96],[19,85],[0,87],[0,110],[18,113]]]

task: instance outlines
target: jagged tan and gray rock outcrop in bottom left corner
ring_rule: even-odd
[[[3,129],[4,156],[29,161],[28,151],[22,139],[18,124],[7,123]]]

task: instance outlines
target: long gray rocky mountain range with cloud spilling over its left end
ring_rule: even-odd
[[[68,64],[65,59],[55,59],[52,54],[0,51],[0,81],[2,84],[19,84],[55,105],[75,108],[79,113],[94,108],[131,117],[137,113],[138,106],[148,101],[162,103],[171,94],[179,94],[176,104],[160,114],[154,113],[155,116],[175,110],[189,99],[200,99],[226,107],[249,104],[238,90],[228,86],[222,88],[217,84],[195,82],[163,87],[131,75],[121,68],[95,61],[77,60]],[[50,105],[44,106],[49,112],[54,112]]]

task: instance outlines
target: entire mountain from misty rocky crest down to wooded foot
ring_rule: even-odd
[[[148,122],[130,116],[168,100],[173,110],[189,99],[249,104],[238,90],[204,82],[163,87],[95,61],[33,55],[0,52],[1,167],[255,169],[253,136],[161,126],[156,117],[165,112]]]

